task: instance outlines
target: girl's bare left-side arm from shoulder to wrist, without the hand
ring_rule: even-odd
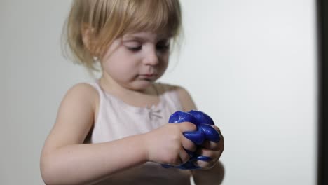
[[[98,101],[97,91],[88,84],[75,85],[65,95],[41,153],[41,174],[46,184],[82,184],[146,162],[144,149],[133,147],[143,146],[137,136],[83,144]]]

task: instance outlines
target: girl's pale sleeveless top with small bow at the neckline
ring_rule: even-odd
[[[177,91],[156,84],[160,102],[152,107],[134,107],[114,95],[104,92],[99,82],[90,83],[99,93],[100,103],[93,130],[86,143],[110,142],[130,135],[142,134],[168,123],[172,113],[182,110]],[[159,89],[160,88],[160,89]],[[142,123],[142,124],[141,124]],[[165,169],[157,163],[145,163],[111,175],[99,184],[190,184],[190,171]]]

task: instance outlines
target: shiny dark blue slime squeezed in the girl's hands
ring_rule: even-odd
[[[211,125],[214,125],[214,122],[210,116],[207,114],[201,112],[201,111],[176,111],[173,113],[169,118],[169,123],[182,123],[182,122],[191,122],[197,126],[197,130],[194,132],[184,132],[184,137],[188,138],[192,142],[194,142],[198,147],[201,147],[201,144],[205,140],[210,140],[211,142],[219,142],[220,135],[217,130],[212,128]],[[208,161],[211,160],[211,158],[206,156],[199,156],[196,153],[193,153],[191,151],[188,151],[185,149],[185,151],[189,154],[190,159],[179,166],[172,166],[172,165],[162,165],[165,168],[168,167],[177,167],[182,170],[196,170],[200,167],[193,164],[193,161],[195,160],[203,160]]]

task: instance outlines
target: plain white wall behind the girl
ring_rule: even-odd
[[[187,88],[221,128],[224,184],[315,184],[314,3],[182,0],[184,47],[160,81]],[[43,184],[60,100],[90,80],[61,55],[69,4],[0,2],[0,184]]]

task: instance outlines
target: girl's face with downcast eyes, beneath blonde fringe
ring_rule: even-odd
[[[168,67],[170,38],[151,32],[125,34],[102,57],[105,78],[132,90],[144,90]]]

